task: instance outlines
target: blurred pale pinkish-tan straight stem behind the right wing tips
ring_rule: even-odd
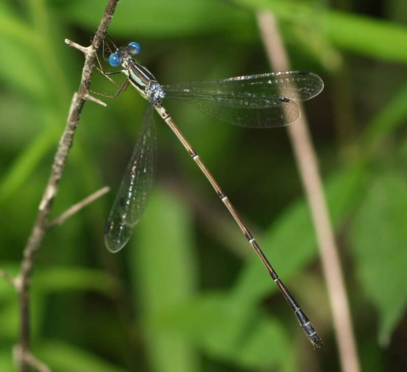
[[[289,70],[286,52],[273,15],[270,12],[259,12],[257,21],[270,64],[280,71]],[[329,219],[322,180],[318,171],[317,158],[312,146],[305,116],[302,116],[294,125],[290,125],[287,128],[311,209],[331,302],[342,369],[346,372],[358,372],[360,370],[360,363],[342,269]]]

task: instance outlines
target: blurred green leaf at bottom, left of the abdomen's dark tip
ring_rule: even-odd
[[[160,325],[185,334],[212,358],[246,368],[295,370],[281,322],[255,307],[242,314],[227,294],[204,294],[164,311]]]

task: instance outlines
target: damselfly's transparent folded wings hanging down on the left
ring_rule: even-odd
[[[130,239],[153,187],[157,152],[153,110],[151,103],[144,110],[133,154],[106,223],[105,244],[111,252],[122,249]]]

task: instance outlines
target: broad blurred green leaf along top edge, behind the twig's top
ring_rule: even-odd
[[[101,3],[97,0],[66,2],[65,17],[75,20],[92,29],[99,24],[103,13]],[[249,12],[232,6],[227,2],[206,0],[150,0],[148,2],[122,2],[114,14],[110,31],[114,34],[128,36],[131,31],[137,37],[176,37],[185,35],[213,34],[219,30],[246,27],[253,24]]]

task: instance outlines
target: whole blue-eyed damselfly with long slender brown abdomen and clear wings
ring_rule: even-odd
[[[313,347],[315,349],[321,348],[321,338],[305,313],[290,295],[235,207],[230,203],[207,166],[169,116],[162,102],[167,98],[188,101],[208,115],[243,127],[280,127],[293,123],[300,117],[300,109],[296,102],[308,100],[321,92],[324,87],[322,79],[311,72],[287,71],[232,77],[219,81],[161,85],[147,68],[141,66],[133,58],[133,55],[140,52],[138,43],[131,42],[126,47],[117,48],[114,46],[114,48],[115,51],[105,60],[112,67],[121,66],[122,69],[105,72],[101,68],[102,73],[106,76],[115,73],[124,73],[127,76],[114,97],[127,88],[130,83],[148,101],[148,104],[144,110],[141,129],[133,154],[106,224],[105,243],[107,248],[111,252],[122,249],[130,239],[134,226],[146,209],[153,186],[156,164],[157,140],[153,121],[155,109],[181,141],[181,144],[236,220],[244,236],[293,309]]]

